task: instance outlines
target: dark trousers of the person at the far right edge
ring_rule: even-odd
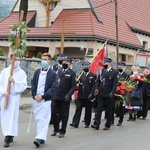
[[[137,114],[138,117],[141,117],[141,116],[144,118],[147,117],[149,103],[150,103],[150,97],[143,98],[143,107],[141,111],[138,111],[138,114]]]

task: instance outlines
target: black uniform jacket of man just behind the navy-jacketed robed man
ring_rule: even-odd
[[[67,69],[63,73],[63,68],[58,70],[57,87],[54,93],[54,100],[65,100],[65,96],[68,95],[71,100],[71,96],[76,88],[76,74],[72,69]]]

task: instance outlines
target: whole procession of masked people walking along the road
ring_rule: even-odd
[[[13,55],[10,57],[10,62]],[[50,67],[51,55],[43,53],[41,67],[34,72],[31,81],[31,93],[34,100],[33,113],[36,123],[36,136],[33,141],[36,147],[40,147],[47,140],[49,124],[53,126],[51,136],[63,138],[66,134],[69,109],[72,95],[76,93],[75,113],[70,126],[78,128],[82,108],[85,108],[85,128],[90,126],[99,130],[102,112],[105,111],[106,123],[103,130],[110,130],[114,124],[114,114],[119,117],[117,126],[121,126],[124,114],[128,111],[128,121],[136,121],[137,118],[146,119],[150,101],[150,69],[143,72],[139,66],[132,66],[130,74],[127,74],[126,64],[119,62],[117,69],[112,67],[112,60],[104,58],[103,68],[98,75],[90,71],[90,63],[82,64],[82,72],[77,77],[71,69],[72,60],[64,54],[58,54],[58,64]],[[0,74],[0,100],[1,100],[1,127],[5,136],[4,147],[9,147],[15,136],[18,136],[19,101],[21,93],[27,88],[27,76],[20,68],[20,61],[15,57],[14,72],[10,76],[11,64]],[[123,93],[116,93],[116,89],[122,81],[131,81],[134,88]],[[7,91],[7,83],[11,83],[10,93]],[[116,97],[125,96],[119,106],[115,107]],[[8,107],[4,108],[5,99],[8,98]],[[94,123],[91,125],[92,111],[94,110]],[[127,111],[126,111],[127,110]]]

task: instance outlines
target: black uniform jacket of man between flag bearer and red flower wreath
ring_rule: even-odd
[[[96,89],[99,88],[98,96],[109,97],[109,94],[115,94],[118,84],[118,71],[111,68],[109,71],[102,69],[96,81]]]

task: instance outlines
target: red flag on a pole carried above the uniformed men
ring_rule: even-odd
[[[103,48],[100,50],[100,52],[97,54],[93,62],[90,66],[90,71],[94,74],[98,74],[98,71],[103,68],[103,60],[104,57],[108,57],[108,48],[107,44],[103,46]]]

